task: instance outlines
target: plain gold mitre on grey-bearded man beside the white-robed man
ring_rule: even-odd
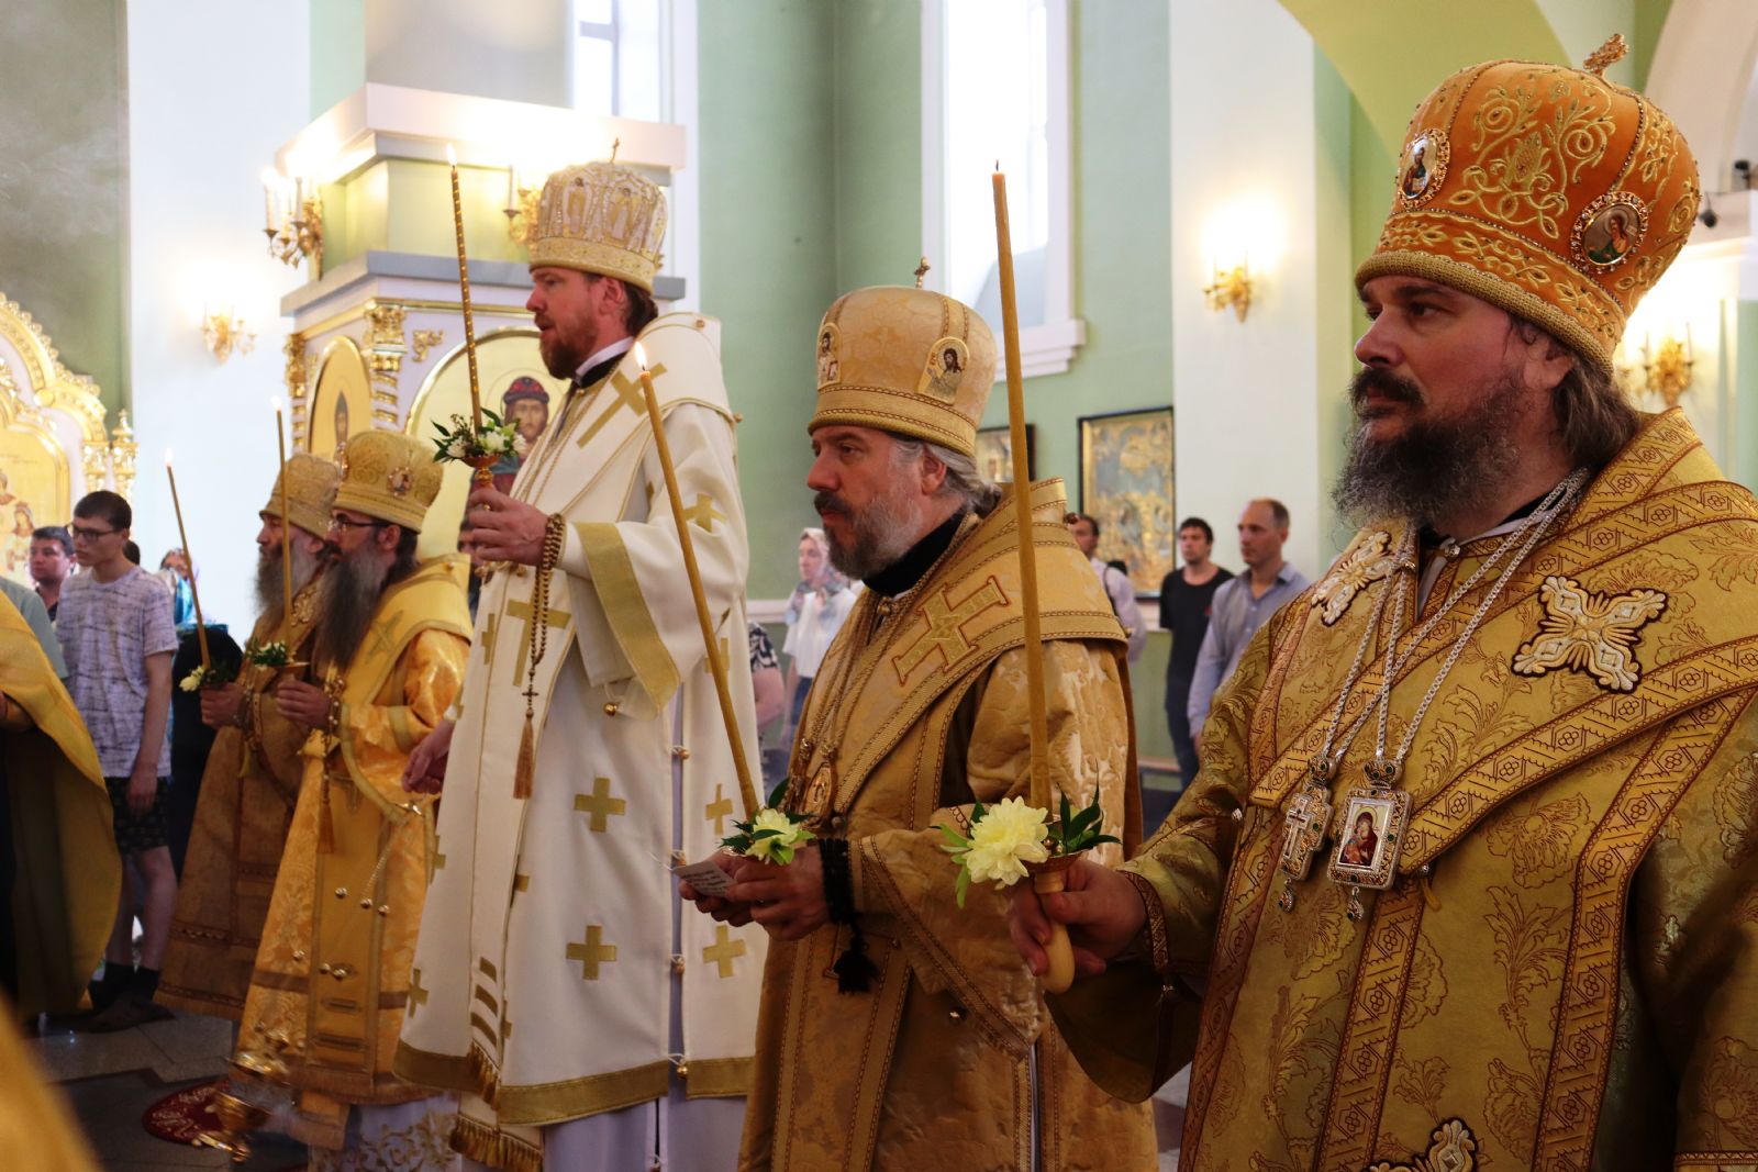
[[[972,455],[993,387],[995,336],[970,306],[925,288],[860,288],[817,327],[807,432],[854,423]]]

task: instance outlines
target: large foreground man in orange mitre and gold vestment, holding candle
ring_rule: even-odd
[[[1166,826],[1046,901],[1085,1068],[1143,1098],[1194,1060],[1183,1168],[1758,1151],[1758,504],[1612,378],[1700,195],[1616,54],[1417,107],[1355,276],[1364,525]]]

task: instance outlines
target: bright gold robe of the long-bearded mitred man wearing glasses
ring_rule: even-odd
[[[239,1047],[271,1049],[285,1037],[288,1082],[299,1091],[290,1130],[320,1147],[341,1147],[348,1103],[431,1095],[390,1074],[431,833],[425,815],[403,808],[410,796],[401,778],[464,678],[466,573],[462,559],[443,557],[385,589],[343,673],[334,743],[315,731],[304,747]]]

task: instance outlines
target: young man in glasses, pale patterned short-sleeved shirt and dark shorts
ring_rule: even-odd
[[[134,898],[123,884],[116,926],[104,951],[104,979],[91,988],[91,1030],[127,1030],[171,1014],[153,1003],[165,958],[178,877],[165,845],[171,775],[171,657],[178,633],[171,590],[125,555],[134,510],[114,492],[74,506],[74,557],[84,573],[62,587],[56,634],[67,689],[91,731],[116,819],[116,849],[146,886],[141,966],[134,966]]]

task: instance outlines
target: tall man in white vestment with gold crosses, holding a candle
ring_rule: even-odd
[[[749,550],[719,323],[654,316],[663,235],[665,199],[631,170],[543,188],[527,306],[575,385],[512,492],[469,497],[498,568],[455,720],[404,782],[445,799],[396,1070],[461,1093],[466,1167],[712,1172],[738,1153],[765,937],[684,915],[668,872],[744,814],[635,336],[756,773]]]

